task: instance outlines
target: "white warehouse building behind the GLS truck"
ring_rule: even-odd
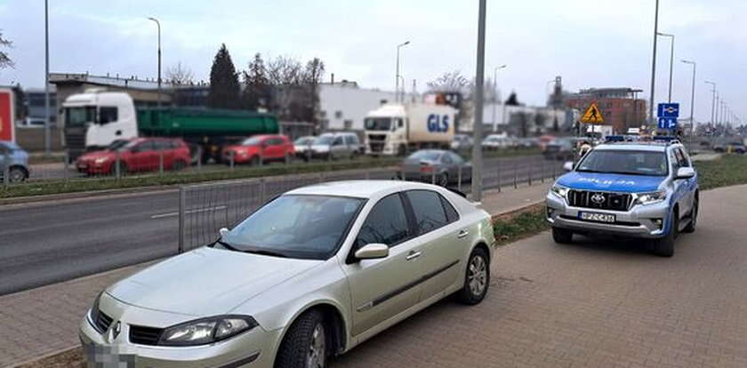
[[[355,82],[319,84],[321,130],[363,131],[365,115],[394,100],[394,92],[360,88]]]

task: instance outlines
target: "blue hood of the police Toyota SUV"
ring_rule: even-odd
[[[558,184],[572,189],[632,193],[655,191],[664,179],[663,176],[568,172],[558,179]]]

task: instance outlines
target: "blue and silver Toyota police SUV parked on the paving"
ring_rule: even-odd
[[[574,234],[630,236],[671,257],[679,233],[695,231],[697,172],[679,140],[604,143],[565,169],[546,198],[556,243]]]

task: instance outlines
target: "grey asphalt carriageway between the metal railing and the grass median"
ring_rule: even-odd
[[[499,170],[502,185],[510,186],[530,172],[534,180],[549,177],[559,166],[542,156],[489,158],[486,187],[497,185]],[[326,180],[363,179],[365,172],[370,179],[394,177],[392,171],[365,170],[331,172]],[[269,179],[264,197],[308,182],[302,175]],[[214,239],[219,228],[259,204],[247,186],[207,188],[188,197],[188,247]],[[172,255],[178,250],[178,212],[175,189],[0,207],[0,295]]]

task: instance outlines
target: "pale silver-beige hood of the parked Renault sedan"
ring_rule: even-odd
[[[146,268],[107,292],[141,308],[216,316],[321,263],[203,247]]]

